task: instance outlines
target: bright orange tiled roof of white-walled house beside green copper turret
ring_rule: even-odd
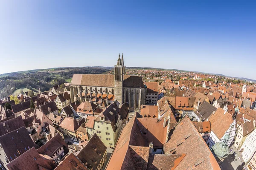
[[[211,130],[213,133],[218,139],[221,139],[233,123],[233,118],[230,113],[225,113],[222,108],[218,108],[210,117],[209,122],[211,122]]]

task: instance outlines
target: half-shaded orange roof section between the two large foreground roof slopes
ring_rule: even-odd
[[[137,118],[140,131],[143,133],[146,145],[150,142],[154,143],[154,147],[163,147],[167,138],[168,120],[164,119],[150,119],[150,118]]]

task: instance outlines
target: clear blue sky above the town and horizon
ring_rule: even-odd
[[[256,79],[256,1],[0,0],[0,74],[156,67]]]

